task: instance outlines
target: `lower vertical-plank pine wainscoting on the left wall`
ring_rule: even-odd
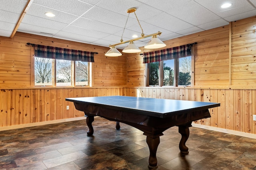
[[[1,89],[0,131],[84,117],[84,113],[76,110],[74,104],[65,98],[125,94],[122,87]],[[69,106],[68,110],[66,106]]]

